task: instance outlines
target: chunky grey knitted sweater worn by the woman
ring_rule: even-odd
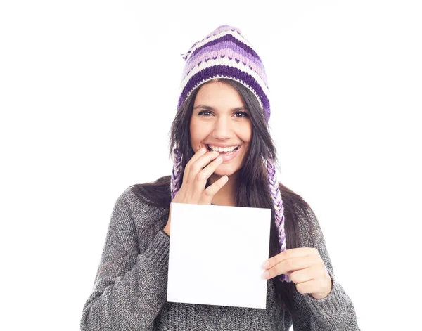
[[[132,186],[118,197],[94,288],[84,305],[81,330],[283,331],[292,323],[295,331],[360,330],[350,297],[335,281],[321,228],[314,218],[314,233],[305,220],[300,221],[302,247],[315,247],[312,242],[316,242],[333,289],[324,299],[295,291],[292,299],[300,318],[292,320],[286,307],[277,304],[271,281],[266,309],[167,302],[170,238],[162,228],[168,213],[168,208],[146,205]],[[288,285],[295,286],[293,282]]]

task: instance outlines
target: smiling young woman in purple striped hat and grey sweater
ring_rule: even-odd
[[[172,176],[117,199],[81,330],[359,330],[312,209],[276,180],[260,57],[222,25],[184,59]],[[266,309],[166,301],[172,202],[272,209]]]

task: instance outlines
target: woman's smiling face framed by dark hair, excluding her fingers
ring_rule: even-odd
[[[203,146],[207,150],[228,149],[218,150],[223,162],[214,174],[231,176],[241,169],[252,138],[252,123],[236,89],[222,82],[201,86],[193,104],[190,130],[193,152]]]

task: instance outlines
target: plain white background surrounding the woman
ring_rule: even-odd
[[[319,218],[359,327],[411,329],[421,15],[419,1],[1,1],[0,328],[78,330],[115,200],[170,174],[180,54],[229,24],[264,62],[279,180]]]

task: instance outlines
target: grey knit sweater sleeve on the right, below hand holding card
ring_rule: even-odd
[[[293,303],[299,310],[298,318],[293,317],[295,331],[360,331],[352,300],[343,287],[335,280],[333,266],[328,255],[324,235],[319,222],[310,207],[298,212],[301,228],[302,247],[318,249],[333,283],[330,294],[324,299],[315,299],[311,294],[293,290]],[[293,286],[294,283],[292,282]]]

